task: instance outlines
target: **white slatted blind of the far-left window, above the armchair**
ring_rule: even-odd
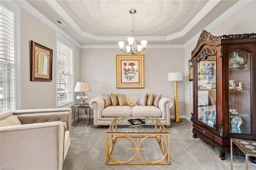
[[[0,112],[15,109],[14,13],[0,5]]]

